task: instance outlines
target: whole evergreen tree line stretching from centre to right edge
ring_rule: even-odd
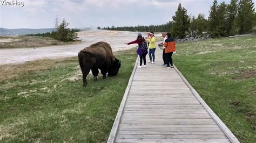
[[[173,21],[162,25],[104,27],[105,30],[171,32],[174,38],[184,38],[191,31],[200,36],[208,32],[212,38],[234,34],[256,33],[256,13],[252,0],[231,0],[230,4],[218,4],[214,0],[208,19],[204,14],[190,17],[187,10],[179,3]],[[98,27],[100,28],[100,27]]]

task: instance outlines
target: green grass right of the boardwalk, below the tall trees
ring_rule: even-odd
[[[256,37],[177,45],[174,64],[241,142],[256,142]]]

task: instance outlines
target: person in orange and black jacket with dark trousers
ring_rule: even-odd
[[[171,33],[166,33],[167,39],[164,42],[165,46],[165,56],[166,56],[166,61],[167,61],[167,66],[166,68],[173,68],[173,62],[172,62],[172,54],[173,52],[176,51],[176,43],[173,38],[171,38]],[[171,66],[170,66],[171,65]]]

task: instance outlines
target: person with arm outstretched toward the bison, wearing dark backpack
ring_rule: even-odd
[[[146,55],[148,52],[147,52],[147,49],[146,50],[142,49],[142,42],[145,42],[145,41],[146,40],[144,39],[144,37],[142,37],[142,33],[138,32],[138,37],[135,41],[125,43],[127,45],[130,45],[130,44],[138,44],[139,45],[138,49],[137,49],[137,54],[139,55],[139,59],[140,59],[138,68],[142,68],[142,61],[144,63],[143,67],[146,67]]]

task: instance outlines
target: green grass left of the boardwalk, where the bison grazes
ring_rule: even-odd
[[[2,80],[0,142],[106,141],[137,55],[133,49],[117,58],[122,61],[117,76],[89,80],[87,87],[82,77],[63,80],[75,75],[77,57]]]

